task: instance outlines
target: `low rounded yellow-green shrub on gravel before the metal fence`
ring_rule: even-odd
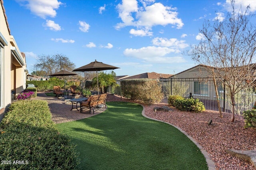
[[[193,111],[193,112],[202,112],[205,110],[203,102],[200,102],[199,99],[182,99],[178,98],[174,101],[173,106],[180,111]]]

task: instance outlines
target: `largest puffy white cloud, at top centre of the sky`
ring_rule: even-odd
[[[152,0],[144,0],[143,7],[138,6],[136,0],[123,0],[122,4],[118,4],[117,9],[119,18],[122,22],[116,25],[116,29],[126,26],[135,26],[140,30],[151,30],[155,25],[176,25],[176,28],[182,28],[184,23],[178,18],[176,8],[164,6],[161,3],[154,3],[150,6],[147,4],[154,2]]]

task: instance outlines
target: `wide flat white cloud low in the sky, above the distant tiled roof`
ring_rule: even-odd
[[[127,57],[134,57],[142,59],[151,63],[184,63],[186,62],[183,57],[165,57],[165,55],[176,52],[175,49],[168,47],[142,47],[140,49],[125,49],[124,55]]]

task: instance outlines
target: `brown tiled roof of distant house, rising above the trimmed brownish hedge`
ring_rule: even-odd
[[[145,72],[142,74],[137,74],[134,76],[129,76],[126,78],[122,78],[122,80],[128,80],[128,79],[137,79],[137,78],[149,78],[149,79],[160,79],[160,78],[169,78],[172,76],[172,74],[161,74],[156,72]]]

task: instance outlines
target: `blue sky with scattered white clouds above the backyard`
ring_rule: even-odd
[[[255,0],[238,0],[245,9]],[[229,0],[4,0],[11,35],[31,73],[38,55],[66,55],[76,68],[97,61],[118,76],[174,74],[195,66],[182,55],[204,20],[223,21]]]

